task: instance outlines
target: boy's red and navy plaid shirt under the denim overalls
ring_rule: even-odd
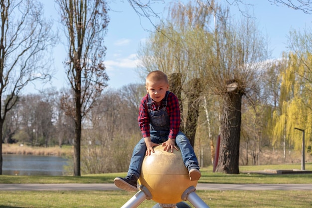
[[[149,94],[146,94],[146,96],[144,96],[141,100],[139,116],[138,116],[139,127],[141,129],[141,132],[144,138],[151,136],[150,135],[150,116],[149,116],[148,106],[147,106],[148,100],[149,100]],[[153,111],[159,110],[162,108],[162,104],[158,106],[153,101],[151,108]],[[168,94],[166,108],[167,108],[168,116],[170,118],[170,133],[169,133],[168,138],[175,139],[180,129],[180,108],[179,108],[179,101],[172,92]]]

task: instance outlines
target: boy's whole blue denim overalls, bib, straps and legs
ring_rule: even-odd
[[[166,110],[166,105],[169,93],[169,91],[166,92],[165,98],[162,100],[162,108],[159,110],[153,111],[151,109],[152,98],[150,96],[147,103],[150,116],[151,141],[156,144],[160,144],[168,140],[168,135],[170,132],[170,119]],[[193,166],[198,167],[198,161],[195,152],[189,143],[189,140],[182,132],[179,131],[176,135],[175,143],[181,151],[182,160],[186,168],[190,170],[190,168]],[[144,138],[142,138],[133,150],[128,175],[134,174],[138,178],[140,177],[141,167],[146,151],[147,147]]]

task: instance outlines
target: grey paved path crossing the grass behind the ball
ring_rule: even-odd
[[[114,184],[0,184],[0,191],[113,191]],[[312,184],[197,184],[196,190],[312,190]]]

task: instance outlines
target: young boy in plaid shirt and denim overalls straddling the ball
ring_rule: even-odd
[[[186,136],[179,131],[180,109],[177,97],[168,91],[168,78],[161,71],[152,71],[146,78],[148,94],[140,104],[138,122],[143,138],[135,146],[125,178],[117,177],[115,185],[129,192],[136,192],[137,181],[141,174],[141,166],[145,156],[154,153],[153,147],[161,144],[164,151],[173,152],[177,145],[181,151],[183,162],[188,169],[191,181],[199,180],[198,161],[194,150]]]

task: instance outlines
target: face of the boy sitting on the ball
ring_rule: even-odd
[[[166,95],[166,91],[169,89],[168,83],[165,81],[153,81],[148,80],[146,90],[150,94],[151,98],[159,105],[161,100]]]

